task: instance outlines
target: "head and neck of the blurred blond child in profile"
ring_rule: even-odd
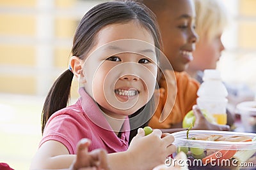
[[[216,69],[220,60],[221,52],[225,47],[221,36],[227,27],[227,12],[218,0],[194,0],[196,9],[196,33],[200,40],[196,43],[193,52],[194,59],[189,63],[186,71],[193,77],[198,78],[198,71],[204,69]],[[202,82],[202,77],[197,79]]]

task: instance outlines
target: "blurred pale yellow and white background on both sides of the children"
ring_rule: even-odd
[[[0,162],[29,168],[41,138],[44,97],[68,68],[77,22],[99,2],[0,1]],[[223,35],[226,51],[218,69],[223,80],[246,83],[256,92],[256,1],[223,3],[232,24]]]

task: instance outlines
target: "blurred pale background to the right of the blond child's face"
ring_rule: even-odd
[[[255,0],[223,0],[231,24],[223,35],[226,47],[218,63],[223,80],[245,83],[256,92]]]

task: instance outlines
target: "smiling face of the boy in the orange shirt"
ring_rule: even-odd
[[[184,71],[193,60],[192,52],[198,39],[193,1],[168,0],[162,11],[156,11],[156,15],[163,38],[163,52],[175,71]]]

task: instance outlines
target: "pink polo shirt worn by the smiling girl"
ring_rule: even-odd
[[[92,97],[83,88],[80,98],[71,106],[54,113],[45,125],[41,146],[45,141],[59,141],[70,154],[76,154],[76,145],[82,138],[92,141],[89,151],[104,148],[108,153],[127,150],[130,125],[125,119],[122,134],[118,138]]]

